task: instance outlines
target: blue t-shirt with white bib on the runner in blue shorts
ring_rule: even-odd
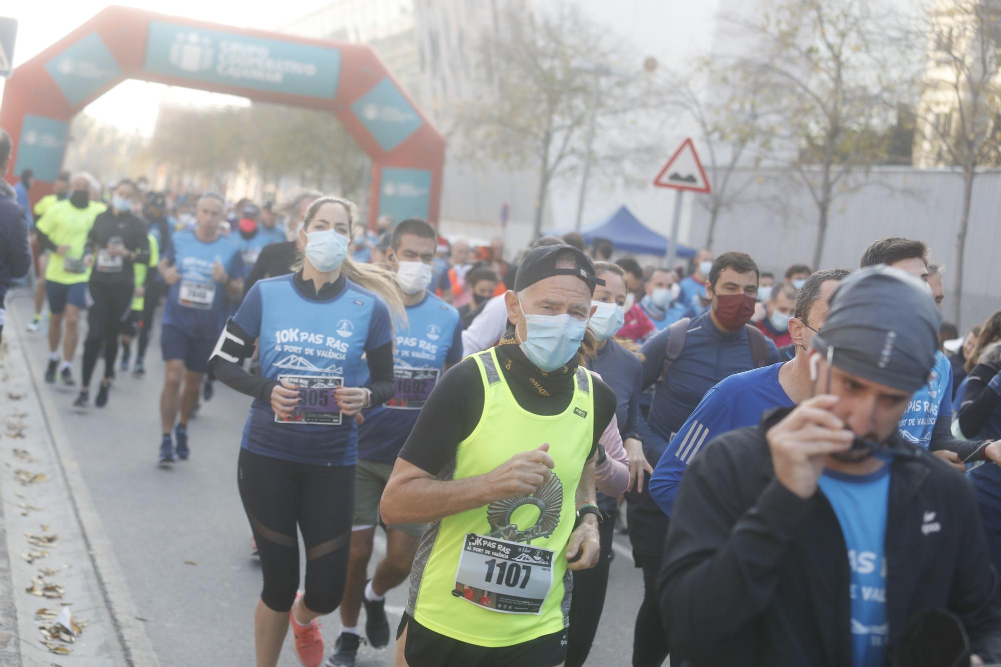
[[[214,341],[225,323],[226,285],[212,277],[212,265],[218,261],[227,275],[242,275],[239,246],[222,234],[206,243],[184,229],[174,233],[165,256],[181,279],[167,292],[163,324],[177,326],[190,338]]]

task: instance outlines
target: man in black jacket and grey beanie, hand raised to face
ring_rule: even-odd
[[[935,364],[940,321],[913,277],[858,271],[813,339],[813,398],[715,439],[693,462],[661,579],[679,659],[706,667],[1001,659],[997,573],[973,491],[897,429]],[[955,653],[935,639],[943,621],[960,644]],[[938,657],[916,658],[906,639],[915,636]]]

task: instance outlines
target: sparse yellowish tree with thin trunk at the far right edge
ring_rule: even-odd
[[[973,184],[978,168],[997,164],[1001,156],[1001,2],[939,0],[923,28],[924,34],[915,40],[928,46],[916,163],[947,164],[963,178],[952,299],[953,318],[960,321]]]

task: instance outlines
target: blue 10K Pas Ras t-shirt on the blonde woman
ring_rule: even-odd
[[[333,296],[310,299],[293,277],[255,282],[233,317],[248,336],[260,339],[261,376],[342,378],[344,387],[364,387],[368,373],[362,355],[392,341],[385,302],[350,280]],[[351,466],[357,434],[353,418],[342,418],[337,426],[278,423],[269,403],[254,400],[241,447],[298,463]]]

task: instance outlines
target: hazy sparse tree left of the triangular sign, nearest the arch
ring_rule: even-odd
[[[615,132],[603,129],[642,106],[632,94],[637,79],[615,71],[620,54],[601,26],[568,4],[538,17],[511,13],[508,29],[481,46],[478,64],[497,94],[458,110],[461,156],[539,169],[534,238],[542,234],[551,185],[584,159],[593,106],[596,134],[606,144]],[[600,160],[605,144],[597,143]]]

